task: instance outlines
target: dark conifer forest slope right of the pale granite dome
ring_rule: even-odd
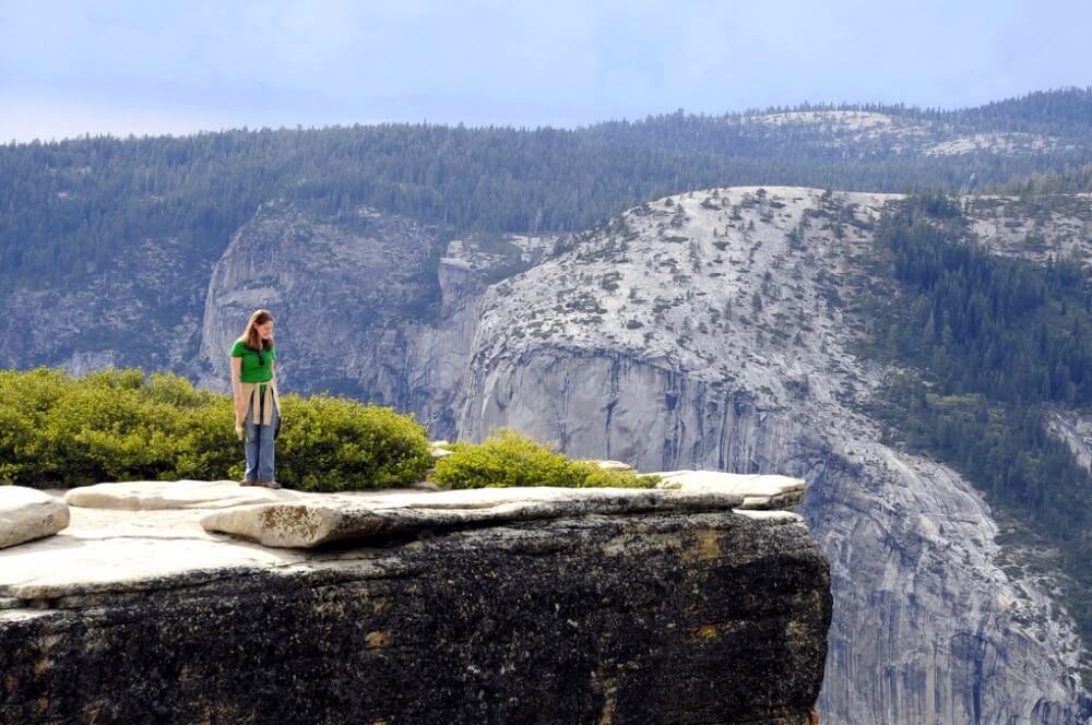
[[[1092,284],[1077,259],[1046,266],[969,241],[960,202],[911,197],[877,231],[876,294],[858,300],[866,349],[918,373],[890,381],[891,433],[948,462],[1061,552],[1067,605],[1092,643],[1092,485],[1048,406],[1092,405]],[[894,295],[880,287],[898,282]]]

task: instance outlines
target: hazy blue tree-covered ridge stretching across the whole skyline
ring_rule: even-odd
[[[1092,162],[1087,96],[1054,92],[949,119],[971,133],[1004,128],[1011,111],[1065,141],[1032,154],[923,155],[885,135],[835,139],[821,126],[681,112],[571,131],[379,124],[9,144],[0,146],[0,289],[70,284],[149,238],[215,259],[276,198],[331,213],[366,204],[456,233],[563,233],[696,188],[1005,183]],[[899,111],[900,122],[928,119],[875,108]]]

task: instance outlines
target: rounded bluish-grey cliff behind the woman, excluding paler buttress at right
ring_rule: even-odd
[[[288,203],[264,204],[212,270],[202,381],[228,389],[230,345],[250,312],[265,307],[281,322],[285,389],[371,392],[404,402],[408,341],[439,296],[437,235],[366,210],[323,222]]]

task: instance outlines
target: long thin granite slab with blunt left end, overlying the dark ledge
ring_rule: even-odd
[[[206,514],[206,531],[265,546],[310,548],[425,528],[593,514],[704,512],[733,509],[743,497],[724,491],[629,488],[477,488],[439,494],[308,497]]]

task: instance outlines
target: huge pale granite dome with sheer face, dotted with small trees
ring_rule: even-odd
[[[889,199],[721,189],[577,239],[487,292],[460,432],[807,478],[835,601],[823,722],[1084,723],[1080,644],[1002,571],[988,506],[858,412],[887,371],[853,355],[845,300]]]

